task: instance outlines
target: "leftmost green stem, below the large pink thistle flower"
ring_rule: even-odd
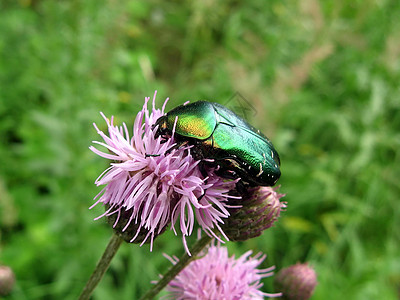
[[[111,236],[110,241],[108,242],[107,248],[103,253],[103,256],[100,258],[99,262],[97,263],[96,268],[94,269],[92,275],[90,276],[88,282],[86,283],[85,287],[81,295],[79,296],[79,300],[87,300],[89,299],[90,295],[92,295],[93,290],[96,288],[97,284],[100,282],[101,278],[103,278],[104,273],[107,271],[111,260],[113,259],[114,255],[117,253],[119,246],[123,239],[121,239],[116,234]]]

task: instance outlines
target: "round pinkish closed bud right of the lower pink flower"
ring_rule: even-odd
[[[307,300],[317,285],[317,274],[307,263],[297,263],[280,270],[275,277],[275,288],[283,299]]]

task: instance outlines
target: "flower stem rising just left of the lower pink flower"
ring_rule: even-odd
[[[193,245],[192,249],[190,249],[192,256],[185,253],[179,261],[173,265],[168,272],[163,275],[163,277],[145,295],[143,295],[142,298],[140,298],[140,300],[153,299],[172,279],[175,278],[176,275],[179,274],[180,271],[182,271],[192,260],[197,258],[197,254],[199,254],[199,252],[210,243],[211,239],[212,238],[208,235],[204,235],[200,240],[198,240],[196,244]]]

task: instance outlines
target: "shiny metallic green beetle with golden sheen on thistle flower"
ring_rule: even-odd
[[[279,155],[269,139],[221,104],[180,105],[160,117],[156,126],[156,137],[171,136],[175,126],[178,145],[193,145],[196,159],[214,160],[221,177],[272,186],[281,175]]]

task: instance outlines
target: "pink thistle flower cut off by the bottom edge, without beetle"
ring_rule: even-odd
[[[257,269],[266,255],[251,251],[238,259],[228,257],[228,249],[211,245],[200,259],[192,261],[167,286],[170,299],[264,299],[280,297],[281,293],[260,291],[262,278],[273,275],[274,266]],[[167,257],[173,264],[176,257]]]

